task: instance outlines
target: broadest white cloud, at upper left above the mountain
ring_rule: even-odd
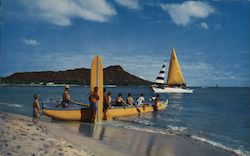
[[[23,0],[33,16],[59,26],[69,26],[73,18],[106,22],[116,10],[106,0]]]

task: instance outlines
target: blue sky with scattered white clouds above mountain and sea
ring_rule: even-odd
[[[188,86],[250,86],[250,1],[8,0],[0,76],[104,67],[154,81],[174,47]]]

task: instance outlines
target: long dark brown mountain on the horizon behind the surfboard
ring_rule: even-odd
[[[90,69],[79,68],[66,71],[42,71],[14,73],[2,78],[2,83],[30,84],[30,83],[67,83],[90,84]],[[104,68],[104,84],[107,85],[149,85],[152,82],[143,80],[126,72],[121,66]]]

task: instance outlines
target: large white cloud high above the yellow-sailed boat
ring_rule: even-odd
[[[186,1],[182,4],[161,4],[161,8],[168,12],[173,22],[186,26],[194,18],[206,18],[215,9],[206,2]]]

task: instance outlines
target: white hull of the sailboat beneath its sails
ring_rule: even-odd
[[[187,89],[187,88],[173,88],[173,87],[152,87],[153,91],[155,93],[193,93],[193,89]]]

